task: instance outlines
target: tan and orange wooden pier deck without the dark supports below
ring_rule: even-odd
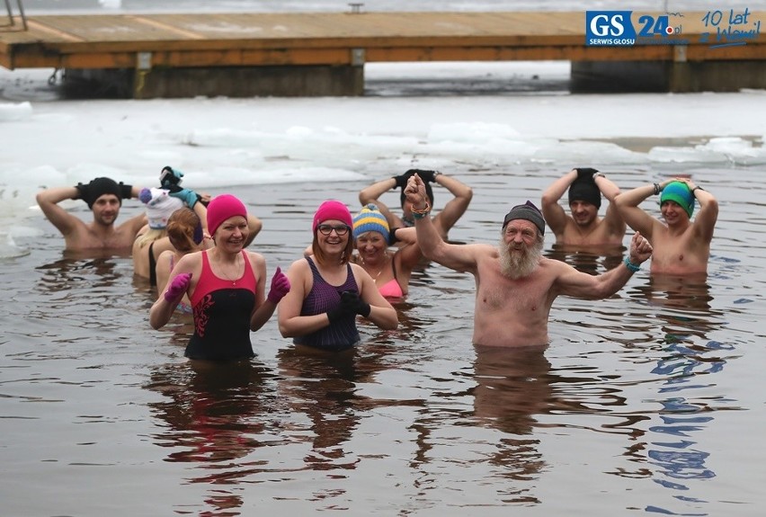
[[[692,41],[706,30],[702,16],[682,19]],[[585,47],[583,12],[44,15],[28,24],[29,31],[0,31],[3,67],[133,67],[138,52],[171,67],[339,65],[350,63],[352,49],[364,49],[368,62],[674,56],[667,45]],[[719,49],[692,44],[686,56],[766,59],[766,35]]]

